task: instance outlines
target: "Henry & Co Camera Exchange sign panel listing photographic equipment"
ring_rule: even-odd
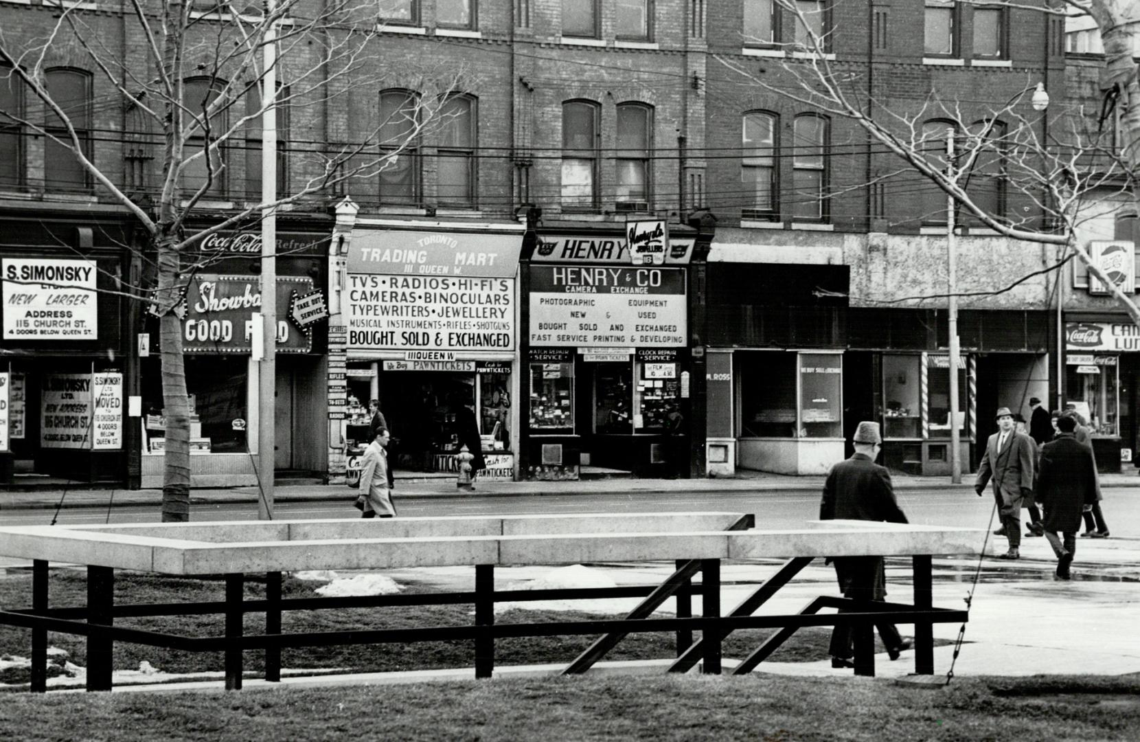
[[[681,269],[530,268],[532,345],[679,348],[686,319]]]

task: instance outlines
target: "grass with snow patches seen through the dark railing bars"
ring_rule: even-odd
[[[285,597],[319,597],[317,584],[286,578]],[[410,585],[407,593],[427,592],[429,587]],[[255,581],[246,584],[247,600],[264,595],[264,585]],[[50,605],[85,605],[87,572],[74,569],[56,569],[50,572]],[[220,579],[181,579],[156,577],[131,572],[119,572],[115,577],[115,603],[163,603],[190,601],[220,601],[225,596]],[[31,573],[9,572],[0,578],[0,605],[25,608],[31,604]],[[290,631],[337,631],[359,628],[413,628],[424,626],[470,626],[474,622],[473,605],[434,605],[389,609],[351,609],[325,611],[286,611],[283,614],[283,630]],[[510,622],[538,622],[555,620],[585,620],[598,618],[596,614],[564,611],[512,610],[496,620]],[[603,617],[611,618],[611,617]],[[614,617],[616,618],[616,617]],[[217,636],[222,633],[221,615],[154,617],[140,619],[116,619],[116,626],[170,631],[187,636]],[[246,634],[264,631],[264,614],[247,613]],[[750,629],[731,634],[724,643],[724,655],[743,658],[773,633],[772,629]],[[806,662],[828,658],[830,629],[801,629],[784,643],[773,655],[773,661]],[[496,666],[536,664],[569,662],[585,650],[594,637],[554,636],[500,639],[495,644]],[[87,664],[85,638],[67,634],[49,634],[49,646],[67,652],[66,658],[55,658],[50,675],[63,671],[64,659],[78,664]],[[944,642],[943,642],[944,643]],[[880,646],[878,651],[883,651]],[[0,627],[0,658],[6,655],[28,657],[31,633],[26,629]],[[608,655],[609,660],[666,659],[676,655],[675,635],[671,633],[634,634],[622,639]],[[171,650],[116,643],[114,667],[121,670],[138,669],[146,660],[163,672],[202,672],[223,670],[220,653],[187,653]],[[263,654],[256,651],[245,653],[245,669],[250,672],[262,670]],[[323,646],[285,650],[282,666],[292,669],[341,668],[355,672],[383,672],[392,670],[423,670],[472,667],[474,664],[473,642],[422,642],[417,644]],[[19,684],[28,682],[26,668],[8,668],[0,672],[0,683]],[[0,737],[2,740],[3,737]]]

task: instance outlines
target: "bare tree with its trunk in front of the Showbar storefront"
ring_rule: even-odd
[[[463,71],[416,68],[408,62],[398,70],[385,68],[383,27],[377,21],[382,0],[264,0],[263,6],[230,0],[128,0],[116,19],[123,28],[122,42],[115,41],[117,34],[107,33],[101,6],[89,11],[82,3],[44,0],[44,5],[56,6],[57,11],[34,38],[23,32],[17,38],[0,28],[0,74],[13,76],[3,82],[21,85],[23,98],[32,104],[22,111],[0,111],[0,121],[74,156],[93,180],[96,193],[125,207],[147,235],[156,285],[125,291],[148,303],[160,318],[166,418],[162,520],[186,521],[190,418],[181,324],[174,309],[194,272],[210,261],[197,245],[212,234],[246,226],[291,204],[323,207],[333,186],[377,178],[384,169],[397,166],[401,153],[425,129],[440,124],[443,117],[437,114],[462,83]],[[272,70],[279,87],[272,96],[262,95],[268,43],[276,43],[278,51]],[[161,148],[153,206],[142,205],[123,182],[115,168],[122,153],[97,150],[100,156],[92,156],[67,101],[52,97],[44,72],[60,48],[84,58],[100,87],[113,90],[129,111],[127,120],[146,130],[127,131],[124,141],[112,147],[149,141]],[[188,84],[188,80],[205,84]],[[406,105],[389,112],[388,121],[348,121],[353,101],[367,111],[361,98],[374,100],[384,87],[423,95],[409,95]],[[227,146],[241,147],[247,128],[256,125],[274,105],[294,112],[329,112],[328,119],[339,121],[345,131],[355,128],[356,134],[291,147],[292,171],[298,177],[288,193],[268,203],[231,209],[205,229],[187,230],[187,218],[211,199],[226,173]]]

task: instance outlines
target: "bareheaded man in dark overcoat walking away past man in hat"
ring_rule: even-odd
[[[1097,502],[1097,464],[1089,447],[1077,442],[1072,415],[1058,417],[1057,427],[1057,437],[1041,449],[1036,499],[1045,511],[1045,538],[1057,554],[1057,579],[1067,580],[1081,514]]]

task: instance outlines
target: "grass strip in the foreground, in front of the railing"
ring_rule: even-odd
[[[0,740],[1135,740],[1140,678],[511,678],[237,693],[6,694]]]

